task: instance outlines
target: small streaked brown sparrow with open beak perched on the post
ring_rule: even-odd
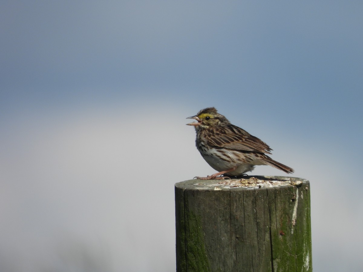
[[[218,171],[207,177],[195,178],[220,180],[238,177],[252,171],[256,165],[270,165],[288,174],[294,172],[289,166],[266,155],[272,154],[272,149],[265,142],[231,124],[215,107],[200,110],[187,119],[196,120],[187,124],[195,127],[196,147],[204,160]]]

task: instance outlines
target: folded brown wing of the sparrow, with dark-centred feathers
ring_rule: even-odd
[[[271,148],[255,136],[235,125],[219,128],[213,136],[208,137],[208,144],[220,148],[229,148],[238,151],[257,151],[271,154]]]

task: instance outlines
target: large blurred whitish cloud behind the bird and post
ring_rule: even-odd
[[[170,105],[18,119],[15,137],[1,141],[4,256],[17,260],[17,271],[62,271],[81,265],[78,255],[110,264],[109,271],[174,270],[174,183],[214,173],[196,151],[184,115],[190,113]],[[314,269],[361,268],[355,252],[363,241],[348,237],[359,232],[362,209],[347,190],[356,184],[338,167],[345,162],[270,141],[274,158],[311,182]],[[253,173],[284,174],[267,166]],[[3,268],[15,265],[4,261]]]

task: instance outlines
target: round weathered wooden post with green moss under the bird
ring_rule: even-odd
[[[313,271],[307,180],[179,182],[175,215],[178,272]]]

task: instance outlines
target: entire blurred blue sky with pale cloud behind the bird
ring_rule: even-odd
[[[362,270],[362,8],[2,1],[0,270],[173,271],[210,106],[310,180],[314,270]]]

